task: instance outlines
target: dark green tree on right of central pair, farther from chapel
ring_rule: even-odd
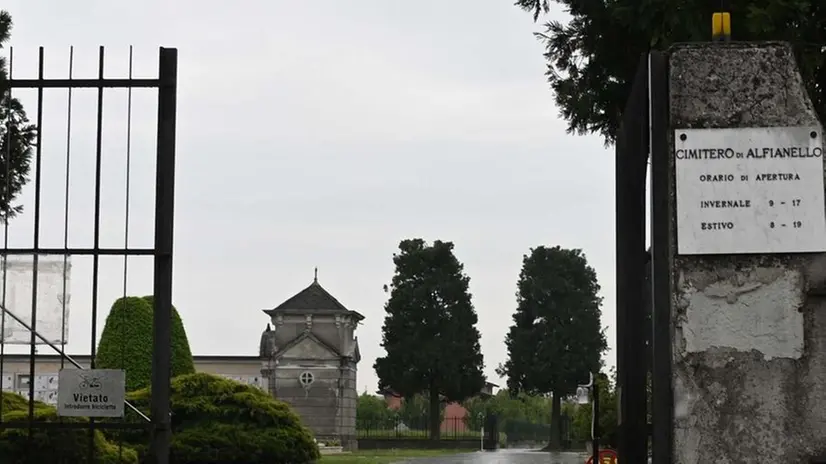
[[[552,393],[550,448],[560,447],[561,399],[596,373],[607,348],[599,284],[581,250],[543,246],[522,260],[516,313],[497,369],[511,392]]]

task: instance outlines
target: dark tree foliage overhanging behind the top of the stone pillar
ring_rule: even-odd
[[[719,1],[517,0],[534,21],[552,4],[571,15],[549,21],[536,36],[545,44],[548,81],[569,132],[596,132],[614,141],[640,55],[679,42],[711,40]],[[820,120],[826,120],[826,2],[730,0],[732,39],[784,40],[797,63]]]

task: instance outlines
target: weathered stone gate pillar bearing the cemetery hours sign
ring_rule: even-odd
[[[809,462],[826,454],[824,138],[792,48],[677,46],[669,102],[673,462]]]

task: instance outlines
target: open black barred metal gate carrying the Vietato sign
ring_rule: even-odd
[[[97,59],[97,78],[75,78],[73,75],[74,53],[70,49],[68,60],[68,77],[61,79],[47,79],[44,77],[44,50],[41,47],[39,56],[37,58],[37,77],[34,79],[16,79],[14,77],[14,51],[9,49],[9,55],[6,59],[8,78],[0,80],[0,95],[2,95],[2,113],[5,121],[2,130],[2,147],[5,153],[0,153],[0,160],[5,163],[5,166],[0,167],[0,172],[4,177],[0,179],[0,191],[2,191],[2,214],[3,216],[13,216],[14,211],[9,208],[11,199],[14,196],[15,189],[20,188],[16,185],[19,182],[21,185],[25,182],[20,182],[19,176],[16,177],[13,172],[13,163],[20,162],[20,159],[12,160],[15,156],[13,150],[18,150],[20,144],[29,143],[31,146],[30,163],[30,182],[33,184],[34,194],[33,201],[28,202],[25,206],[27,212],[30,211],[33,216],[34,226],[33,232],[30,236],[31,246],[14,247],[9,243],[9,224],[14,223],[14,219],[5,220],[0,227],[4,228],[4,243],[2,252],[0,252],[0,259],[2,259],[2,320],[0,320],[0,391],[8,389],[8,386],[3,385],[4,378],[8,382],[8,376],[5,374],[4,367],[9,367],[12,362],[12,355],[9,354],[9,347],[7,346],[7,328],[12,324],[17,324],[18,327],[25,328],[28,336],[28,342],[22,342],[23,346],[27,346],[28,354],[19,356],[26,356],[28,361],[27,376],[18,374],[20,378],[28,379],[28,388],[22,389],[24,397],[28,399],[28,411],[25,419],[22,420],[3,420],[4,405],[0,402],[0,433],[5,434],[6,437],[14,436],[20,440],[27,440],[29,443],[26,447],[28,451],[25,452],[26,457],[19,458],[18,462],[35,462],[35,455],[37,449],[34,438],[36,434],[54,433],[54,434],[74,434],[85,437],[88,433],[88,441],[81,441],[84,443],[80,445],[84,449],[85,456],[81,457],[85,462],[96,462],[98,455],[101,453],[99,443],[96,437],[101,433],[109,433],[109,436],[120,436],[119,434],[138,433],[143,431],[146,436],[146,459],[149,462],[164,464],[169,460],[169,446],[171,438],[170,429],[170,321],[171,321],[171,307],[172,307],[172,240],[173,240],[173,205],[175,192],[175,124],[176,124],[176,92],[177,92],[177,50],[173,48],[161,48],[158,59],[158,74],[156,78],[134,78],[133,77],[133,53],[129,49],[129,73],[124,78],[105,78],[104,77],[104,48],[100,47]],[[123,58],[121,58],[123,59]],[[157,89],[157,134],[156,134],[156,154],[155,154],[155,169],[154,169],[154,239],[147,239],[147,243],[154,242],[153,246],[149,247],[130,247],[129,246],[129,204],[130,204],[130,163],[133,161],[131,154],[131,138],[132,138],[132,91],[133,89]],[[16,101],[13,100],[16,93],[36,92],[36,108],[28,107],[29,114],[34,114],[32,119],[35,121],[28,127],[30,139],[24,140],[26,133],[21,131],[15,124],[21,121],[13,121],[16,110]],[[52,89],[64,89],[64,91],[53,91]],[[88,172],[72,172],[70,176],[70,160],[72,157],[71,141],[73,138],[72,132],[72,95],[73,91],[78,89],[91,89],[97,92],[97,110],[94,121],[95,131],[95,147],[94,147],[94,167]],[[117,128],[117,130],[126,131],[127,144],[123,150],[112,150],[107,148],[104,150],[102,142],[104,132],[104,94],[108,89],[125,89],[128,94],[128,104],[126,115],[126,124]],[[45,92],[44,92],[45,91]],[[44,136],[50,134],[49,124],[44,124],[44,93],[49,96],[55,93],[60,93],[63,98],[67,98],[68,112],[65,116],[66,127],[65,133],[58,133],[58,137],[65,137],[65,150],[60,153],[51,153],[43,148]],[[76,122],[76,121],[75,121]],[[81,120],[81,126],[89,124],[90,121]],[[91,124],[90,124],[91,125]],[[111,124],[107,126],[107,131]],[[52,126],[53,127],[53,126]],[[14,147],[14,148],[13,148]],[[122,247],[104,247],[101,246],[101,220],[102,216],[105,220],[105,215],[102,214],[101,208],[101,181],[104,173],[102,164],[106,162],[107,157],[113,151],[120,151],[119,155],[125,155],[126,171],[125,177],[125,198],[126,198],[126,212],[123,224],[124,240]],[[16,153],[16,151],[15,151]],[[43,210],[43,171],[44,168],[49,168],[50,163],[59,161],[62,166],[66,168],[65,186],[65,204],[64,204],[64,234],[62,247],[46,247],[43,245],[41,239],[42,232],[42,210]],[[25,161],[25,160],[23,160]],[[70,211],[72,205],[69,198],[70,183],[86,183],[87,185],[94,185],[94,215],[91,219],[93,236],[91,243],[88,246],[72,247],[69,246],[68,231],[70,221]],[[91,187],[90,185],[90,187]],[[134,186],[131,186],[134,188]],[[148,186],[148,188],[151,188]],[[79,219],[75,218],[75,221]],[[133,237],[134,238],[134,237]],[[88,421],[69,421],[64,420],[63,417],[58,417],[56,420],[39,420],[36,414],[35,404],[35,378],[38,374],[37,364],[39,358],[44,357],[43,351],[48,351],[50,355],[59,359],[60,368],[73,367],[78,369],[95,369],[95,358],[97,349],[97,333],[98,320],[101,313],[98,308],[98,293],[101,278],[101,258],[106,257],[122,257],[123,259],[123,293],[126,293],[126,273],[129,266],[129,258],[135,256],[151,257],[153,259],[153,295],[154,295],[154,316],[153,316],[153,346],[152,346],[152,367],[151,367],[151,406],[149,411],[138,411],[134,406],[126,404],[127,411],[132,410],[131,413],[125,414],[123,419],[119,420],[104,420],[90,418]],[[70,257],[86,257],[91,260],[91,319],[89,325],[91,326],[91,339],[89,342],[88,361],[78,361],[73,359],[65,352],[65,334],[66,334],[66,275],[68,269],[68,262]],[[7,299],[12,298],[7,295],[6,289],[12,285],[9,283],[7,270],[8,263],[14,259],[29,259],[31,265],[31,284],[28,294],[30,298],[30,306],[26,306],[26,313],[30,309],[30,314],[21,315],[20,311],[14,311],[11,308],[11,303],[7,303]],[[60,340],[55,341],[54,337],[44,335],[44,330],[38,326],[38,306],[43,310],[42,298],[48,289],[38,288],[38,283],[41,279],[38,278],[39,272],[45,272],[44,262],[49,258],[53,262],[60,263],[61,259],[63,266],[63,328],[60,329]],[[56,260],[54,258],[57,258]],[[84,258],[84,259],[86,259]],[[21,287],[22,288],[22,287]],[[26,287],[27,291],[29,287]],[[13,288],[9,292],[12,292]],[[14,301],[19,300],[19,295],[14,296]],[[22,301],[22,300],[21,300]],[[27,303],[28,304],[28,303]],[[11,309],[10,309],[11,308]],[[105,315],[105,314],[104,314]],[[42,324],[41,324],[42,325]],[[41,353],[38,353],[41,351]],[[23,359],[23,358],[20,358]],[[22,361],[21,361],[22,362]],[[57,361],[56,361],[57,362]],[[5,364],[5,366],[4,366]],[[86,365],[84,365],[86,364]],[[24,369],[25,370],[25,369]],[[18,385],[19,386],[19,385]],[[27,390],[27,391],[25,391]],[[18,414],[20,416],[20,414]],[[18,417],[20,419],[20,417]],[[131,431],[131,432],[130,432]],[[2,440],[2,438],[0,438]],[[0,443],[2,445],[2,443]],[[59,445],[58,445],[59,446]],[[118,445],[119,447],[121,445]],[[122,448],[121,448],[122,449]],[[66,462],[82,462],[78,461],[77,457],[64,457]],[[41,462],[41,461],[37,461]]]

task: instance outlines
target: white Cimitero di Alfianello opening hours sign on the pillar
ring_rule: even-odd
[[[820,127],[674,131],[682,255],[826,251]]]

